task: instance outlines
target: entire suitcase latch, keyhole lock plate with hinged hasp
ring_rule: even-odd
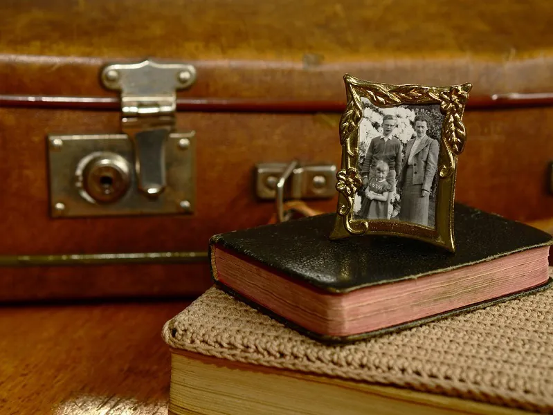
[[[50,134],[55,217],[194,212],[194,131],[175,131],[176,90],[196,79],[189,64],[110,64],[100,82],[121,91],[118,133]]]

